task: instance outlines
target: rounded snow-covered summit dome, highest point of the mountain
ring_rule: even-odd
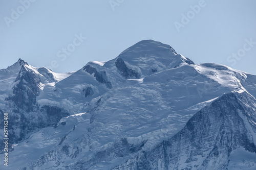
[[[175,68],[179,65],[194,64],[188,58],[177,54],[171,46],[153,40],[144,40],[136,43],[123,51],[115,60],[117,61],[116,66],[120,71],[131,65],[131,67],[137,67],[138,74],[142,76]],[[127,66],[124,62],[127,62]]]

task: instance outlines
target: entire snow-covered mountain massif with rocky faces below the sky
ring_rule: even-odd
[[[161,42],[65,74],[19,59],[0,87],[1,169],[256,168],[256,77]]]

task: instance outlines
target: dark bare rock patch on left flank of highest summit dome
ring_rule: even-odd
[[[118,58],[116,60],[116,67],[119,71],[121,71],[122,73],[122,76],[125,77],[125,79],[128,79],[128,78],[136,78],[136,79],[139,79],[139,73],[133,69],[129,69],[124,61],[121,59],[121,58]]]

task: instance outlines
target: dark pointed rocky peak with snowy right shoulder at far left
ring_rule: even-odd
[[[0,98],[1,116],[4,112],[9,114],[10,151],[13,150],[12,144],[23,141],[42,128],[56,125],[62,117],[69,115],[62,108],[55,107],[54,110],[48,105],[38,105],[37,98],[44,86],[57,82],[51,70],[35,68],[19,59],[0,72],[0,85],[6,91]]]

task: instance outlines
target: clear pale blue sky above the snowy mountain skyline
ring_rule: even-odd
[[[0,68],[22,58],[69,72],[153,39],[256,75],[255,9],[255,0],[2,0]]]

